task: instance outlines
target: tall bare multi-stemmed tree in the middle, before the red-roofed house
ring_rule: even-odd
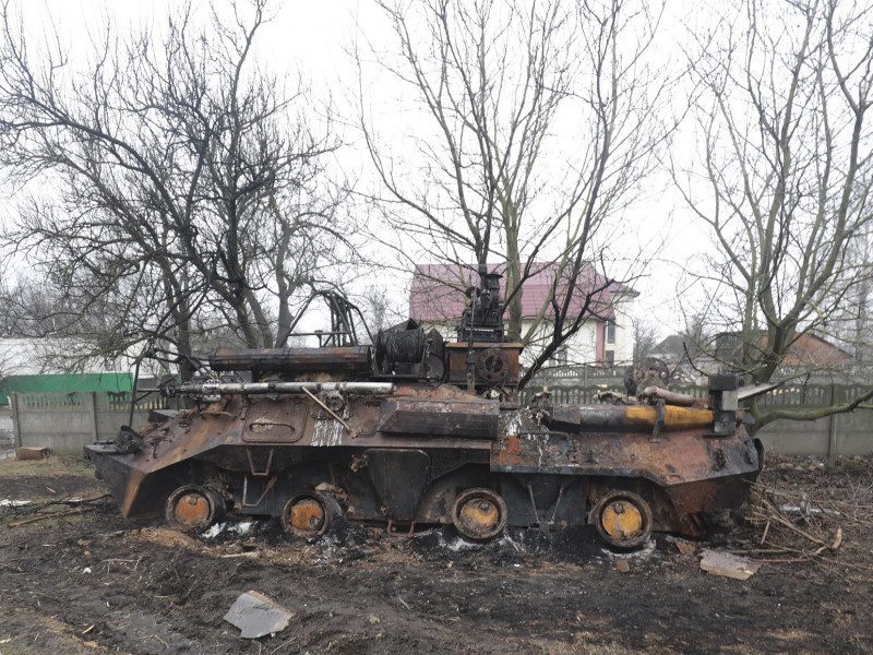
[[[614,283],[597,248],[666,133],[653,107],[667,84],[646,60],[660,14],[633,0],[379,4],[397,48],[356,52],[373,200],[408,264],[502,264],[509,336],[537,344],[524,384]],[[403,107],[420,109],[402,152],[364,102],[379,91],[364,82],[371,56],[411,96]],[[524,317],[523,285],[543,270],[551,293]]]

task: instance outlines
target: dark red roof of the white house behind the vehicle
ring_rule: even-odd
[[[503,273],[505,264],[488,264],[490,272]],[[530,276],[522,284],[522,315],[533,318],[539,313],[549,297],[554,282],[557,265],[552,263],[533,263]],[[464,291],[479,282],[476,265],[463,264],[418,264],[412,273],[412,286],[409,290],[409,315],[416,321],[442,322],[456,321],[467,303]],[[566,282],[558,285],[559,303],[566,297]],[[609,320],[614,318],[612,309],[613,296],[637,293],[629,286],[612,282],[597,273],[594,266],[585,264],[576,281],[576,293],[570,302],[572,315],[582,311],[585,298],[593,293],[589,313]],[[500,297],[506,300],[504,279],[501,279]],[[551,315],[551,308],[547,315]]]

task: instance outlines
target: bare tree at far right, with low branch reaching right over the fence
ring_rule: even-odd
[[[714,236],[718,254],[701,274],[707,317],[736,335],[749,382],[773,380],[802,335],[833,333],[838,309],[869,284],[870,266],[848,253],[873,218],[872,19],[864,3],[743,0],[694,32],[701,160],[674,158],[673,176]],[[761,427],[870,397],[766,414],[755,403],[752,414]]]

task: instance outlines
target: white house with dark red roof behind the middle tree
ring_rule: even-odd
[[[504,264],[489,264],[489,272],[503,273]],[[522,340],[526,352],[523,362],[530,361],[538,345],[550,338],[554,310],[551,306],[555,288],[559,306],[570,291],[569,281],[558,279],[554,263],[531,263],[530,274],[522,284]],[[421,325],[436,330],[447,340],[456,338],[455,329],[467,305],[466,290],[479,284],[476,264],[418,264],[412,273],[409,293],[409,315]],[[513,289],[510,289],[512,291]],[[501,279],[500,296],[506,301],[505,281]],[[567,320],[584,317],[582,329],[555,355],[554,365],[614,366],[633,358],[631,309],[639,294],[633,288],[610,281],[585,264],[573,293],[570,294]],[[590,300],[586,307],[586,299]],[[504,312],[504,321],[507,321]],[[525,357],[527,355],[527,357]]]

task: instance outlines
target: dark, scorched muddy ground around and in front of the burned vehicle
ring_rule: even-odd
[[[770,501],[798,500],[792,524],[805,537],[758,504],[754,523],[693,552],[659,536],[629,555],[587,529],[486,546],[450,529],[289,543],[273,523],[204,538],[122,520],[107,499],[64,503],[104,492],[88,475],[58,460],[0,462],[0,499],[34,501],[0,508],[3,655],[873,652],[870,461],[765,471],[784,495]],[[45,514],[55,516],[24,523]],[[836,527],[835,550],[806,538],[833,546]],[[699,570],[705,547],[768,561],[745,582],[714,576]],[[241,640],[223,617],[249,590],[294,611],[288,629]]]

